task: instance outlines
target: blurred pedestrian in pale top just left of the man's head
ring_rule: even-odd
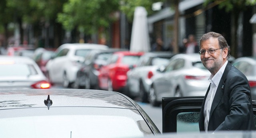
[[[188,40],[185,44],[185,49],[186,49],[186,53],[196,53],[199,51],[199,47],[194,35],[192,34],[188,35]]]

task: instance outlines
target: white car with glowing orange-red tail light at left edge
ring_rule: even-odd
[[[33,59],[0,55],[0,90],[50,87],[50,82]]]

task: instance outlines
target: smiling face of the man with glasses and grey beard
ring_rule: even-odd
[[[215,75],[225,63],[228,49],[219,49],[220,46],[218,43],[218,38],[212,37],[206,41],[202,41],[200,48],[201,51],[206,50],[205,54],[200,55],[204,67],[206,67],[206,69],[208,69],[212,75]],[[207,52],[208,50],[214,49],[216,49],[214,53]]]

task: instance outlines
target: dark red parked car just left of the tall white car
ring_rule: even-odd
[[[54,51],[43,49],[38,52],[34,56],[34,61],[40,67],[41,71],[46,75],[46,63],[51,59],[52,55],[54,55]]]

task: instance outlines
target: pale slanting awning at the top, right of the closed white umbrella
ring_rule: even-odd
[[[199,4],[204,3],[205,0],[184,0],[180,2],[179,4],[179,10],[180,12],[184,12],[185,10],[188,10],[194,6],[198,6]],[[171,8],[164,8],[160,12],[149,16],[148,17],[148,24],[152,24],[154,22],[157,22],[159,20],[163,20],[165,18],[171,17],[174,15],[174,10]]]

